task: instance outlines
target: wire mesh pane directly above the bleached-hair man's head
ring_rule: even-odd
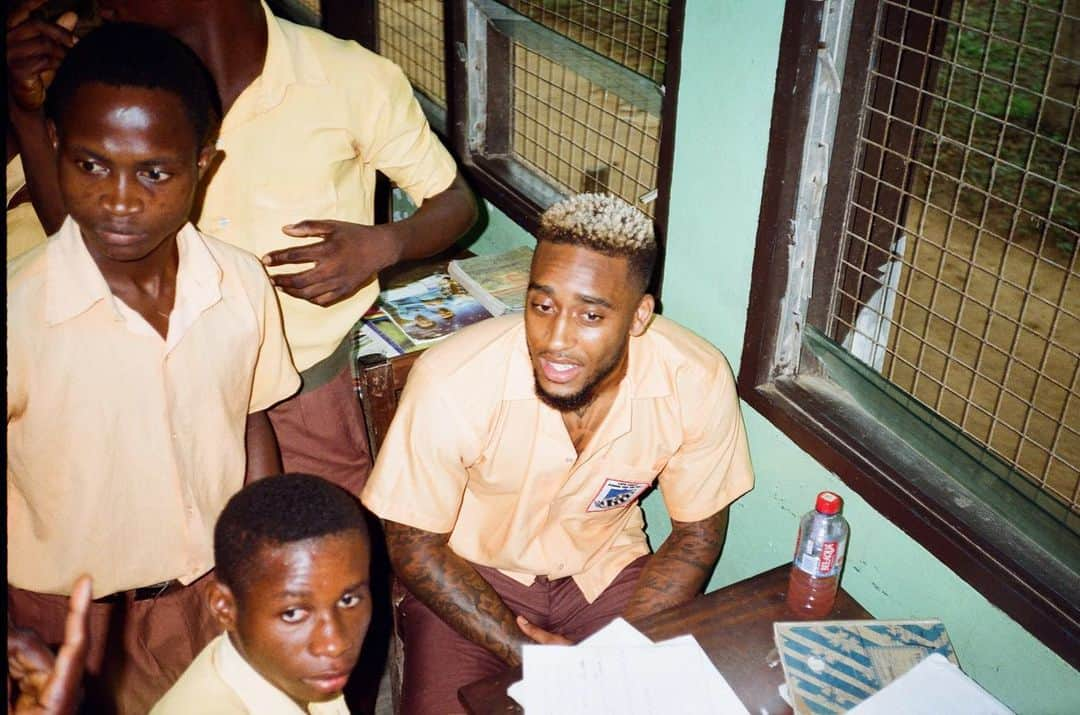
[[[660,118],[513,46],[513,151],[568,193],[610,191],[652,215]]]

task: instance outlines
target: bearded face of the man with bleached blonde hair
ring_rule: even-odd
[[[532,254],[525,305],[525,339],[537,395],[569,412],[616,389],[626,346],[652,318],[624,257],[540,241]]]

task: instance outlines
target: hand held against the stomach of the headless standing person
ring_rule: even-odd
[[[271,275],[270,281],[294,298],[316,306],[333,306],[354,295],[401,256],[400,242],[389,225],[307,220],[289,224],[282,231],[287,235],[323,239],[306,246],[271,251],[262,257],[266,266],[315,264],[298,273]]]

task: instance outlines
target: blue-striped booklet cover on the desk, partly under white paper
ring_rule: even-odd
[[[779,622],[773,637],[797,715],[846,713],[930,653],[958,664],[940,620]]]

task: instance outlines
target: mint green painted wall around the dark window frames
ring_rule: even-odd
[[[738,370],[783,2],[688,0],[683,39],[664,313],[720,348]],[[531,239],[498,210],[474,245]],[[821,489],[845,497],[851,544],[843,586],[878,618],[944,620],[963,670],[1022,714],[1080,713],[1080,674],[868,507],[753,409],[744,408],[757,474],[732,508],[710,589],[792,555],[799,515]],[[669,522],[646,503],[653,544]]]

